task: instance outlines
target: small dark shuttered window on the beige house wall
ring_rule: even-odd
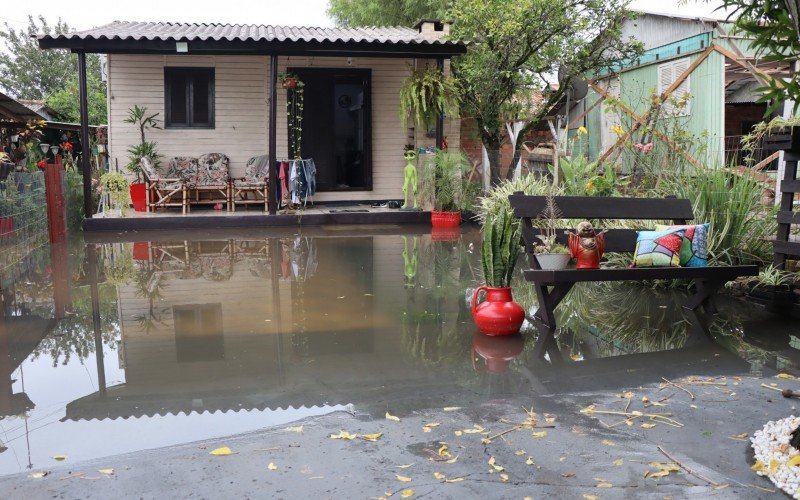
[[[164,126],[214,128],[214,68],[164,68]]]

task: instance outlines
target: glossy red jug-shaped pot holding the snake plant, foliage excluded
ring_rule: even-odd
[[[486,292],[486,301],[478,304],[481,292]],[[486,335],[513,335],[525,321],[525,310],[514,302],[510,287],[479,286],[472,294],[472,317]]]

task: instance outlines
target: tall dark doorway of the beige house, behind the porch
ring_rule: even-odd
[[[317,191],[372,189],[371,71],[291,68],[305,84],[303,158],[317,167]]]

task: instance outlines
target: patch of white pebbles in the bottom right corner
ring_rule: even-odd
[[[759,476],[767,476],[777,486],[793,498],[800,499],[800,466],[789,465],[793,457],[800,455],[800,450],[793,448],[789,441],[792,432],[800,425],[800,417],[782,418],[767,422],[760,431],[750,439],[757,460],[754,470]]]

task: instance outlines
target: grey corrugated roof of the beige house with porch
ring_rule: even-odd
[[[384,44],[462,45],[457,41],[423,37],[405,27],[314,28],[256,24],[161,23],[114,21],[111,24],[60,35],[39,36],[42,41],[159,40],[254,42],[356,42]]]

